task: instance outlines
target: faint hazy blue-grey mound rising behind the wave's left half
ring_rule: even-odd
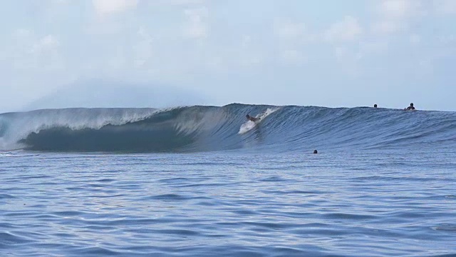
[[[175,86],[128,84],[111,81],[77,81],[44,96],[24,110],[86,108],[166,108],[207,104],[207,99],[195,91]]]

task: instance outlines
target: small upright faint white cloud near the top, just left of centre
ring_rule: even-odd
[[[186,9],[184,14],[188,21],[187,26],[185,26],[185,36],[195,39],[205,38],[208,33],[206,19],[209,12],[207,8]]]

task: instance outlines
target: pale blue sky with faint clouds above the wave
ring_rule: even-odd
[[[0,113],[231,103],[456,111],[454,0],[15,0]]]

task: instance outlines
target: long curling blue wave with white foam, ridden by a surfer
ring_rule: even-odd
[[[261,120],[255,124],[246,122],[246,114]],[[229,104],[164,110],[48,109],[0,114],[2,150],[413,151],[455,146],[456,113],[442,111]]]

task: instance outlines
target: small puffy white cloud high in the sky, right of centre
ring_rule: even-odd
[[[363,28],[353,16],[345,16],[343,20],[324,32],[323,38],[330,42],[353,41],[363,34]]]

